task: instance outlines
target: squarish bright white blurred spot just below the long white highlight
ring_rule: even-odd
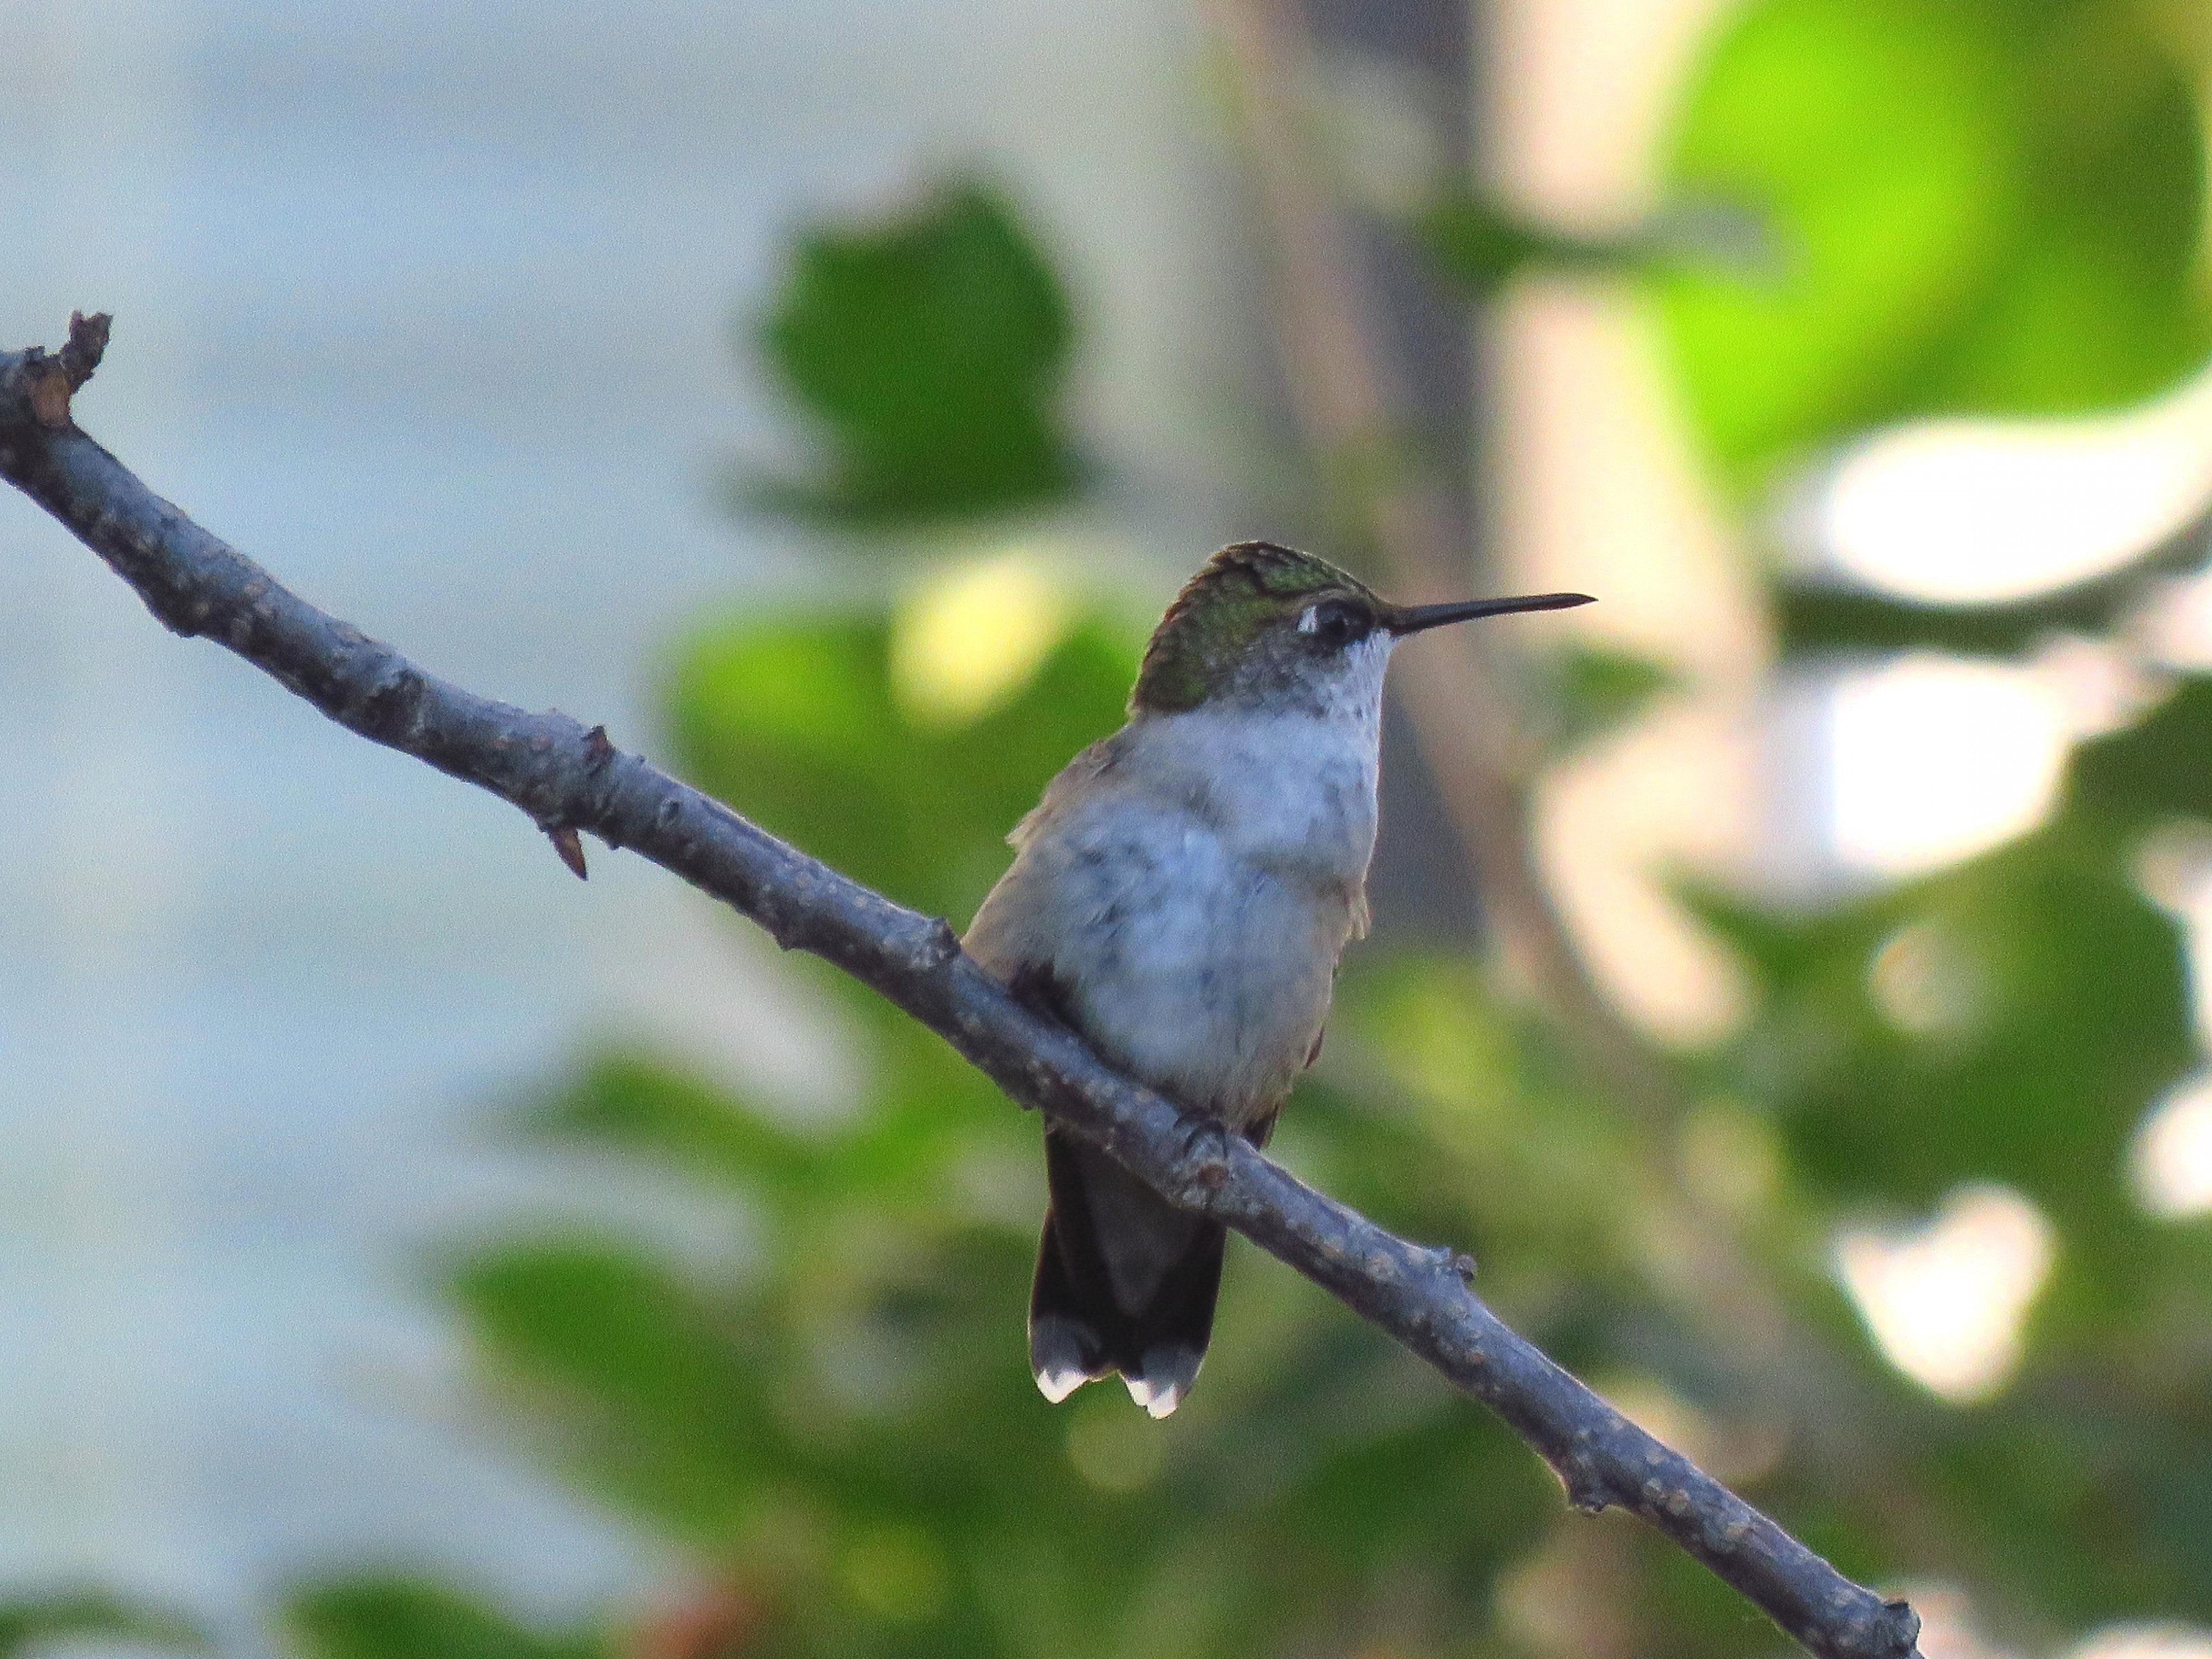
[[[1911,655],[1829,701],[1836,858],[1913,876],[2033,830],[2057,796],[2068,714],[2035,668]]]

